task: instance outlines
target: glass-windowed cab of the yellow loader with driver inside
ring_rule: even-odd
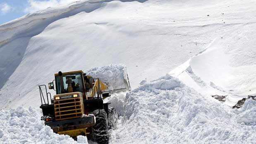
[[[56,94],[81,92],[84,93],[84,78],[82,71],[59,72],[55,74]]]

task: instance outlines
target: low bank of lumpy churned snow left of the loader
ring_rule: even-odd
[[[1,110],[0,116],[1,144],[88,144],[84,136],[78,136],[76,142],[68,135],[55,134],[33,107]]]

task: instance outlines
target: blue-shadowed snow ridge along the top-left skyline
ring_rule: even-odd
[[[16,68],[22,61],[26,47],[29,44],[31,37],[39,35],[45,30],[47,26],[51,23],[58,21],[60,19],[73,16],[80,12],[93,12],[100,7],[103,7],[105,2],[111,2],[113,0],[82,0],[79,2],[72,3],[72,5],[67,5],[59,8],[50,8],[42,11],[34,12],[33,14],[27,14],[20,19],[11,21],[0,25],[0,50],[4,55],[9,55],[19,49],[20,56],[17,60],[11,60],[6,57],[3,58],[2,63],[4,67],[0,70],[3,75],[0,76],[0,89],[4,86],[5,82],[13,74]],[[146,0],[120,0],[121,2],[145,2]],[[29,22],[27,22],[29,21]],[[26,37],[26,38],[25,38]],[[19,44],[22,39],[22,45]],[[5,63],[9,63],[5,65]]]

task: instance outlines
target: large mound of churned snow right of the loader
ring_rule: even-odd
[[[255,104],[230,109],[166,75],[127,93],[112,143],[253,144]]]

